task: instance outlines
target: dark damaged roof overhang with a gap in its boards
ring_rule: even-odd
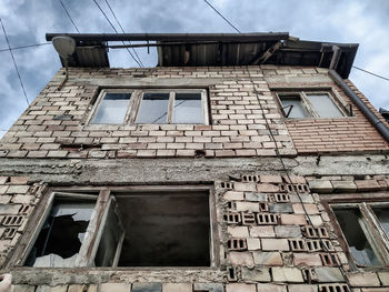
[[[77,42],[70,67],[109,67],[108,49],[157,47],[159,67],[300,66],[330,68],[333,48],[340,49],[335,69],[348,78],[357,43],[303,41],[288,32],[256,33],[47,33],[51,41],[69,36]],[[142,43],[114,46],[109,42]],[[63,64],[63,60],[62,64]]]

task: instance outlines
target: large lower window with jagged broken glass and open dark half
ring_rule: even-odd
[[[209,189],[54,192],[26,266],[210,266]]]

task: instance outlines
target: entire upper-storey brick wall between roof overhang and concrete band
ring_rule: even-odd
[[[388,143],[353,107],[355,118],[287,120],[270,89],[277,78],[285,87],[333,85],[326,69],[263,66],[235,68],[70,69],[60,70],[0,142],[6,158],[172,158],[271,157],[281,154],[387,150]],[[139,80],[202,82],[209,89],[211,125],[88,125],[99,92],[109,83],[129,87]],[[275,82],[276,80],[276,82]],[[113,82],[114,81],[114,82]],[[188,83],[190,83],[188,81]],[[99,84],[100,82],[100,84]],[[112,84],[110,87],[112,87]],[[335,87],[336,88],[336,87]],[[349,102],[348,98],[339,93]],[[256,94],[258,92],[258,95]],[[263,111],[263,112],[262,112]],[[71,115],[58,120],[58,115]]]

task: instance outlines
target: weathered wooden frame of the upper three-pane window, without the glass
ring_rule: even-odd
[[[144,93],[169,93],[169,102],[167,109],[167,122],[166,123],[137,123],[137,117],[143,100]],[[130,93],[131,98],[128,103],[128,109],[124,115],[122,123],[93,123],[93,119],[101,105],[101,102],[107,93]],[[174,99],[176,93],[200,93],[201,97],[201,123],[173,123],[173,109],[174,109]],[[196,89],[196,88],[131,88],[131,89],[101,89],[98,98],[92,107],[92,110],[86,121],[87,125],[142,125],[142,124],[210,124],[209,119],[209,104],[208,104],[208,94],[207,89]]]

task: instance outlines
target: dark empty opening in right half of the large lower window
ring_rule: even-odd
[[[207,192],[117,195],[124,226],[119,266],[209,266]]]

